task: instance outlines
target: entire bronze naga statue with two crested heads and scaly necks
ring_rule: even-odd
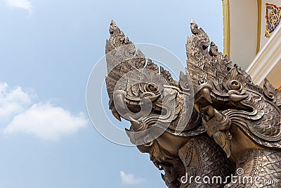
[[[112,21],[107,93],[131,142],[167,187],[281,187],[281,93],[263,88],[190,23],[186,73],[178,81]]]

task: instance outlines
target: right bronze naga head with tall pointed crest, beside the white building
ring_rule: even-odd
[[[188,75],[195,90],[194,106],[216,144],[236,161],[251,149],[280,149],[281,93],[268,80],[263,88],[195,23],[188,37]]]

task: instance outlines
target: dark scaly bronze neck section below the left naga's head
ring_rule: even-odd
[[[189,177],[192,175],[193,177],[207,176],[211,178],[214,175],[221,175],[222,179],[225,180],[226,176],[232,173],[233,170],[233,166],[221,148],[209,137],[202,136],[191,139],[180,149],[178,156],[183,161]],[[196,164],[192,163],[192,161],[196,161]],[[207,186],[224,187],[224,184],[196,184],[193,179],[191,184],[182,184],[181,188]]]

